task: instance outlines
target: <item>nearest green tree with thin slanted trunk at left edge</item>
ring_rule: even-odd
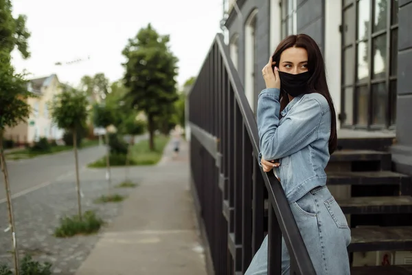
[[[3,154],[3,132],[5,127],[12,127],[25,121],[30,115],[27,104],[27,83],[22,75],[16,74],[10,64],[10,54],[17,47],[23,58],[30,56],[27,39],[30,33],[25,28],[26,18],[12,15],[10,0],[0,0],[0,162],[4,176],[5,194],[7,198],[9,227],[12,235],[12,252],[14,257],[14,270],[19,274],[19,255],[17,252],[16,228],[10,197],[10,184],[8,170]]]

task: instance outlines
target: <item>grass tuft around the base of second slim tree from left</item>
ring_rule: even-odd
[[[54,231],[54,236],[65,238],[79,234],[93,234],[98,232],[104,221],[93,211],[86,211],[80,220],[78,215],[60,219],[60,226]]]

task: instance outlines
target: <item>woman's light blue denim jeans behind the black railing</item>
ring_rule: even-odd
[[[317,275],[350,274],[347,245],[350,228],[345,215],[326,186],[310,190],[290,203]],[[299,261],[299,259],[297,259]],[[244,275],[268,274],[268,236]],[[290,256],[282,238],[282,275],[290,274]]]

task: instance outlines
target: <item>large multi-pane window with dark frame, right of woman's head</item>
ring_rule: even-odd
[[[343,126],[396,124],[398,0],[343,0]]]

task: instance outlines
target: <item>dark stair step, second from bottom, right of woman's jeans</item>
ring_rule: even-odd
[[[352,228],[349,252],[412,250],[412,226]]]

